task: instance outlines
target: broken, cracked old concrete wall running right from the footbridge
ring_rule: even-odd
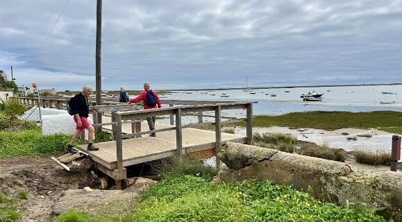
[[[226,182],[275,180],[296,189],[311,190],[316,198],[344,205],[363,202],[385,207],[384,216],[401,220],[402,172],[353,172],[348,164],[274,149],[228,142],[219,157],[228,169],[219,173]]]

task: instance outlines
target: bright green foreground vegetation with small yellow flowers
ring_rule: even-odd
[[[323,203],[271,181],[211,184],[194,176],[169,176],[142,194],[133,212],[110,218],[69,210],[55,221],[385,221],[357,206]]]

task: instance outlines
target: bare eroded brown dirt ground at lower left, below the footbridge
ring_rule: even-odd
[[[0,194],[19,200],[19,221],[51,221],[62,212],[76,208],[90,213],[124,214],[133,210],[138,192],[155,181],[130,180],[123,191],[99,190],[99,178],[93,172],[68,172],[50,157],[0,159]],[[83,189],[91,187],[92,189]],[[28,191],[27,200],[17,193]]]

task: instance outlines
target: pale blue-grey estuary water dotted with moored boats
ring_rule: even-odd
[[[322,101],[303,102],[301,94],[309,91],[324,93]],[[253,101],[253,114],[279,115],[304,111],[369,112],[391,110],[402,112],[402,85],[353,86],[353,87],[305,87],[281,89],[256,89],[256,94],[243,90],[177,92],[166,99]],[[383,94],[392,92],[394,94]],[[221,94],[229,97],[222,98]],[[276,94],[275,97],[270,94]],[[392,104],[380,104],[387,102]],[[234,114],[234,113],[232,113]],[[240,113],[239,113],[240,114]]]

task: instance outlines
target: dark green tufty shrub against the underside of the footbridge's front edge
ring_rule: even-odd
[[[217,175],[215,167],[205,166],[200,160],[187,157],[171,157],[165,160],[158,160],[151,164],[153,173],[162,178],[171,176],[192,175],[212,180]]]

